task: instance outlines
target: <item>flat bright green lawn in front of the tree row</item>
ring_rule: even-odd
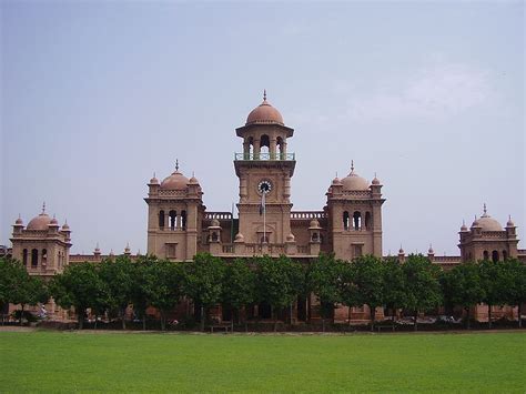
[[[526,392],[526,333],[0,332],[0,392]]]

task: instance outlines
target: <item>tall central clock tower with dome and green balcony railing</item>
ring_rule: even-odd
[[[246,243],[284,244],[291,234],[291,178],[296,164],[286,139],[294,130],[284,124],[265,92],[235,132],[243,139],[243,152],[234,158],[240,179],[239,233]]]

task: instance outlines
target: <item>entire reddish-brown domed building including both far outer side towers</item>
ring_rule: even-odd
[[[383,256],[382,250],[382,183],[376,178],[368,182],[357,174],[351,161],[351,171],[330,182],[326,202],[316,211],[294,211],[291,179],[296,164],[295,154],[289,149],[294,129],[285,125],[281,113],[263,102],[252,110],[244,125],[235,129],[241,149],[234,155],[234,171],[239,179],[237,216],[233,212],[211,212],[203,203],[203,189],[195,176],[186,178],[179,163],[174,171],[159,181],[153,176],[148,183],[148,250],[161,259],[173,262],[191,261],[199,252],[209,252],[223,259],[254,255],[287,255],[308,262],[320,252],[334,253],[337,259],[351,261],[363,254]],[[427,256],[449,270],[465,261],[504,260],[516,257],[526,262],[526,250],[519,250],[516,226],[509,218],[503,228],[490,218],[486,206],[472,226],[459,231],[461,255],[436,256],[429,246]],[[54,218],[42,212],[24,228],[19,218],[11,238],[12,250],[3,249],[20,260],[31,275],[49,279],[61,273],[68,264],[83,261],[100,262],[110,254],[102,254],[97,246],[92,254],[70,254],[71,230],[68,223],[59,226]],[[123,251],[132,260],[130,246]],[[405,260],[401,247],[398,259]],[[60,310],[50,306],[58,314]],[[316,316],[316,300],[299,300],[293,315],[305,319]],[[351,313],[350,313],[351,312]],[[510,313],[494,309],[494,315]],[[257,314],[257,309],[256,312]],[[474,307],[474,317],[487,319],[487,307]],[[366,306],[348,311],[336,310],[335,321],[366,321]],[[377,311],[382,317],[382,311]]]

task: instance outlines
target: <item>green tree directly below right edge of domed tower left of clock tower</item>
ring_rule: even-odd
[[[201,307],[201,331],[204,331],[205,312],[221,302],[224,263],[210,253],[198,253],[184,266],[185,294]]]

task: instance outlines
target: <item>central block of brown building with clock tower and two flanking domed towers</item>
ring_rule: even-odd
[[[162,182],[150,180],[144,199],[149,209],[148,253],[173,261],[196,252],[223,257],[285,254],[312,259],[334,252],[352,260],[382,256],[382,184],[360,176],[354,164],[344,179],[334,179],[326,204],[318,211],[293,211],[291,179],[295,154],[289,150],[294,129],[263,102],[235,130],[242,149],[234,156],[239,178],[239,216],[208,212],[199,181],[179,171]]]

